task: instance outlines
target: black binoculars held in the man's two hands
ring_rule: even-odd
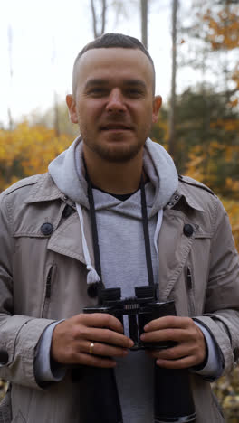
[[[176,315],[174,301],[155,300],[155,287],[135,287],[135,296],[121,299],[120,288],[102,289],[101,304],[85,307],[84,313],[107,313],[119,318],[128,315],[132,351],[170,348],[173,341],[143,343],[145,324],[165,315]],[[81,418],[83,423],[123,423],[117,383],[113,369],[81,366]],[[93,404],[92,404],[93,402]],[[196,412],[186,369],[171,370],[155,364],[154,423],[194,423]]]

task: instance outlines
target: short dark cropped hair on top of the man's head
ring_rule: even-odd
[[[74,94],[75,88],[76,88],[76,65],[81,56],[88,52],[88,50],[92,49],[101,49],[101,48],[114,48],[119,47],[123,49],[139,49],[141,52],[143,52],[150,61],[152,68],[153,68],[153,92],[155,91],[155,66],[153,59],[151,58],[148,50],[145,48],[144,44],[142,42],[139,42],[139,40],[135,37],[131,37],[130,35],[124,35],[123,33],[103,33],[100,37],[96,38],[95,40],[88,42],[86,44],[81,52],[78,53],[76,56],[76,59],[74,61],[73,65],[73,76],[72,76],[72,92]]]

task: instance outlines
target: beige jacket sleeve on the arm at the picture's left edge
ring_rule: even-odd
[[[41,389],[35,380],[37,343],[52,320],[14,315],[14,222],[0,195],[0,378]]]

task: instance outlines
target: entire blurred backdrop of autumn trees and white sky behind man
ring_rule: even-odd
[[[0,192],[78,135],[68,117],[72,65],[101,33],[138,37],[156,67],[163,108],[151,137],[180,174],[224,202],[239,248],[239,1],[8,0],[0,5]],[[0,381],[5,391],[5,382]],[[214,384],[239,422],[239,374]]]

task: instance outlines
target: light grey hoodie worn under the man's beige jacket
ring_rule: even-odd
[[[143,166],[149,182],[145,186],[148,227],[154,280],[158,281],[158,234],[162,209],[177,190],[177,171],[166,150],[149,138]],[[81,230],[81,208],[89,209],[87,183],[82,163],[82,142],[77,138],[69,149],[49,165],[58,188],[77,204]],[[133,296],[134,287],[148,285],[145,243],[141,219],[140,190],[121,202],[93,189],[98,226],[102,279],[105,287],[120,287],[122,297]],[[99,280],[91,266],[87,245],[88,283]],[[128,322],[124,321],[128,334]],[[118,360],[116,379],[124,423],[153,422],[153,361],[142,351],[129,352]]]

